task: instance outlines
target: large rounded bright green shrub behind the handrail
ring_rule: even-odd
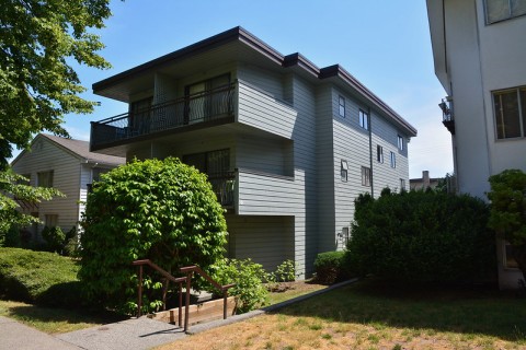
[[[88,196],[82,221],[87,298],[125,313],[136,310],[136,259],[176,275],[207,269],[224,254],[227,226],[207,177],[178,159],[134,161],[102,175]],[[161,282],[147,273],[145,312],[160,305]]]

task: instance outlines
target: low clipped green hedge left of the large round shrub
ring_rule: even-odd
[[[76,261],[57,254],[0,248],[0,294],[8,299],[55,306],[78,306],[78,271]]]

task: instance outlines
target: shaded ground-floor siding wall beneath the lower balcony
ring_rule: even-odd
[[[227,215],[229,255],[251,258],[267,271],[294,259],[294,218]]]

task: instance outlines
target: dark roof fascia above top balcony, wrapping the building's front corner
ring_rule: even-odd
[[[240,40],[242,43],[248,44],[249,46],[260,51],[261,54],[263,54],[264,56],[266,56],[267,58],[270,58],[271,60],[275,61],[278,65],[282,65],[283,62],[284,57],[282,54],[279,54],[278,51],[273,49],[271,46],[260,40],[256,36],[251,34],[243,27],[237,26],[226,32],[210,36],[201,42],[197,42],[195,44],[188,45],[171,54],[161,56],[151,61],[148,61],[140,66],[128,69],[124,72],[117,73],[107,79],[101,80],[92,85],[93,92],[96,93],[98,91],[104,90],[129,77],[145,73],[153,67],[162,67],[163,65],[168,65],[174,60],[185,59],[185,58],[195,56],[197,54],[210,50],[213,48],[216,48],[236,40]]]

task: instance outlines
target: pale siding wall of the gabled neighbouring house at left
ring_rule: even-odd
[[[54,187],[66,197],[41,202],[39,219],[44,221],[45,214],[58,214],[58,225],[64,231],[69,231],[80,219],[78,205],[80,160],[43,137],[37,142],[42,144],[42,149],[35,148],[33,152],[24,152],[13,165],[13,170],[19,174],[31,173],[33,186],[37,185],[38,172],[54,171]],[[42,229],[43,225],[39,226],[39,230]]]

